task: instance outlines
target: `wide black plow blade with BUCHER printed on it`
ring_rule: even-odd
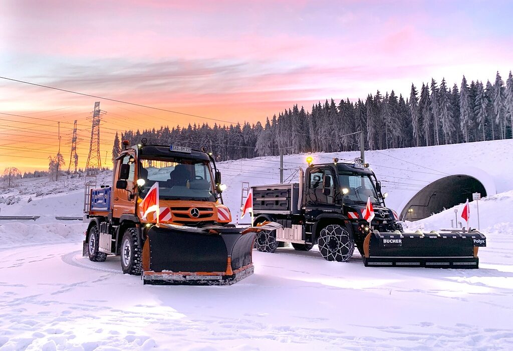
[[[477,230],[374,231],[365,239],[362,256],[366,267],[478,268],[481,246],[486,237]]]

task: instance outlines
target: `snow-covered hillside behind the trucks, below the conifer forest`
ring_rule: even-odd
[[[366,151],[365,158],[378,179],[382,180],[383,191],[389,193],[386,199],[387,206],[401,211],[408,200],[424,186],[448,174],[481,175],[482,171],[486,171],[491,179],[485,177],[484,181],[494,183],[492,185],[495,191],[492,194],[513,189],[513,154],[504,152],[508,149],[513,149],[511,139]],[[285,155],[286,181],[297,181],[299,167],[306,166],[306,156]],[[334,157],[340,160],[353,160],[360,157],[360,152],[315,153],[312,156],[314,163],[323,163],[331,162]],[[223,193],[223,199],[231,209],[234,219],[240,217],[242,182],[249,182],[250,185],[280,182],[279,157],[219,162],[218,167],[223,174],[223,183],[228,186]],[[98,185],[111,182],[109,171],[104,171],[98,176]],[[46,178],[16,181],[16,189],[0,195],[0,215],[42,216],[38,223],[54,221],[55,216],[80,217],[83,209],[83,189],[84,178],[59,182],[48,182]],[[2,201],[2,198],[6,200]],[[7,205],[7,199],[15,203]],[[449,224],[450,222],[444,223],[444,226],[447,227]]]

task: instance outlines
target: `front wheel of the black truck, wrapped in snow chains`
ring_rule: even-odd
[[[327,261],[346,262],[354,251],[354,239],[346,228],[329,224],[319,233],[319,251]]]

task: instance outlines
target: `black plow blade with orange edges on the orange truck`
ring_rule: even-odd
[[[272,225],[272,224],[271,224]],[[144,284],[230,285],[253,274],[262,227],[153,226],[143,248]]]

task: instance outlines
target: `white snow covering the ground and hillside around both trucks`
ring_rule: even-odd
[[[425,180],[420,171],[448,172],[433,154],[464,168],[479,153],[476,160],[498,180],[500,193],[479,203],[488,246],[480,248],[480,269],[471,270],[370,268],[358,252],[336,263],[323,260],[315,247],[280,248],[274,254],[253,251],[254,275],[232,286],[143,285],[139,277],[121,274],[119,258],[93,263],[81,257],[84,224],[52,220],[81,215],[78,181],[74,190],[34,197],[32,189],[47,186],[27,180],[23,191],[10,192],[19,202],[1,205],[2,215],[43,217],[0,223],[0,350],[513,349],[513,162],[504,152],[511,146],[380,151],[411,163],[367,153],[376,172],[405,182]],[[487,152],[501,148],[503,165],[492,167],[497,159],[488,163]],[[314,157],[328,161],[331,155]],[[286,167],[298,167],[304,155],[285,160]],[[241,181],[278,181],[275,161],[221,164],[232,211],[240,206]],[[108,173],[103,177],[108,182]],[[407,190],[388,191],[389,203],[399,203]],[[453,216],[447,209],[407,225],[447,227]]]

